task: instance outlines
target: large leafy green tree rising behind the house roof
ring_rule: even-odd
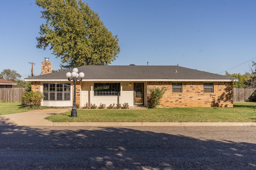
[[[50,47],[63,68],[108,65],[120,52],[113,36],[98,13],[81,0],[36,0],[46,24],[40,26],[37,47]],[[64,65],[65,64],[65,65]]]

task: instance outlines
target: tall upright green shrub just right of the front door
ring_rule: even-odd
[[[156,108],[156,106],[160,105],[160,99],[163,97],[165,89],[151,88],[149,92],[148,108]]]

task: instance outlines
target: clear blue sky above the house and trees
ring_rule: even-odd
[[[110,65],[177,65],[225,74],[250,70],[256,61],[256,0],[87,0],[104,25],[118,35],[120,54]],[[60,59],[36,48],[42,8],[34,0],[0,1],[0,72],[21,79],[52,69]],[[233,68],[234,67],[234,68]],[[232,68],[232,69],[230,69]],[[90,73],[85,73],[90,74]]]

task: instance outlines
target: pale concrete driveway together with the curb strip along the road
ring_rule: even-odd
[[[0,126],[96,126],[96,127],[134,127],[134,126],[256,126],[256,122],[62,122],[54,123],[44,119],[50,115],[70,111],[71,108],[31,110],[0,116]]]

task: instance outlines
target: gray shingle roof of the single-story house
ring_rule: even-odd
[[[26,81],[43,81],[47,79],[65,79],[66,73],[72,72],[72,69],[64,70],[60,72],[53,72],[50,74],[44,74],[40,76],[34,76],[26,78]],[[238,78],[232,78],[223,76],[220,74],[214,74],[181,66],[102,66],[102,65],[86,65],[78,67],[78,73],[84,72],[84,80],[90,79],[169,79],[177,80],[239,80]]]

